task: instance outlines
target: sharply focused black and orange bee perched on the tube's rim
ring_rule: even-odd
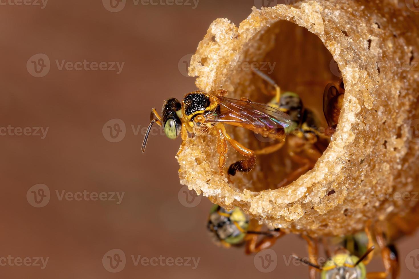
[[[231,138],[225,131],[224,124],[243,127],[261,134],[264,137],[277,140],[285,139],[285,128],[290,126],[290,117],[272,106],[252,102],[247,98],[240,100],[224,97],[226,90],[217,90],[213,94],[195,91],[184,96],[182,102],[175,98],[167,100],[163,105],[162,116],[155,108],[151,110],[150,125],[142,144],[145,151],[147,139],[154,123],[164,127],[168,138],[182,138],[182,145],[178,154],[184,148],[188,133],[195,135],[212,134],[217,136],[217,152],[219,157],[219,171],[223,173],[227,142],[246,159],[230,165],[228,174],[235,175],[236,171],[251,171],[256,165],[253,150],[244,147]],[[154,118],[154,115],[157,119]]]

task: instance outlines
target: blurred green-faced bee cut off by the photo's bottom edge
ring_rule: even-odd
[[[312,263],[308,260],[301,259],[295,255],[293,257],[305,264],[310,268],[321,271],[321,279],[384,279],[391,275],[392,279],[398,278],[398,252],[394,245],[386,245],[383,233],[377,230],[375,239],[381,249],[381,256],[385,266],[384,272],[369,272],[366,271],[367,264],[370,263],[375,249],[372,235],[369,230],[369,225],[365,229],[362,238],[366,238],[366,242],[360,238],[360,234],[356,237],[346,237],[345,246],[338,248],[333,255],[331,255],[328,248],[326,248],[326,255],[328,260],[322,266]],[[349,241],[348,241],[349,240]],[[345,247],[345,248],[343,248]],[[313,251],[313,247],[309,250]],[[360,253],[362,251],[362,253]],[[355,255],[357,254],[357,255]],[[310,258],[314,255],[310,255]],[[310,279],[315,279],[316,274],[310,273]]]

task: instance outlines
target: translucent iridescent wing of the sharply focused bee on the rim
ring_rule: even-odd
[[[243,123],[269,129],[291,125],[289,115],[269,105],[218,96],[217,99],[220,102],[220,114],[206,116],[206,122]]]

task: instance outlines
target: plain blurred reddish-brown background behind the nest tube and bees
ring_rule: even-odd
[[[273,247],[277,266],[269,273],[243,250],[210,241],[210,202],[188,197],[188,203],[179,184],[179,140],[151,136],[141,153],[150,109],[160,112],[163,100],[195,90],[185,63],[212,20],[238,24],[261,0],[110,1],[1,2],[0,126],[10,128],[0,130],[0,277],[307,278],[306,266],[287,266],[292,253],[307,253],[295,236]],[[106,62],[102,69],[124,64],[120,73],[116,65],[93,71],[98,65],[76,64],[84,60]],[[44,138],[36,127],[47,131]],[[84,191],[96,199],[101,192],[124,196],[117,204],[112,194],[96,201],[76,194]],[[416,236],[399,243],[401,278],[418,277],[405,263],[419,248]],[[126,256],[118,273],[107,270],[112,249]],[[195,269],[192,261],[153,266],[140,260],[135,266],[132,255],[200,259]],[[44,269],[41,261],[34,266],[36,257],[49,258]],[[376,260],[368,268],[378,271],[382,264]]]

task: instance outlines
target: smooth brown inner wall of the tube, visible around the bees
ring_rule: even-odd
[[[316,128],[320,128],[320,132],[323,131],[324,135],[328,124],[323,113],[323,92],[327,84],[331,82],[339,84],[342,81],[341,73],[331,53],[318,36],[286,20],[277,21],[259,33],[244,48],[240,63],[257,65],[261,72],[279,85],[282,93],[297,93],[302,100],[303,109],[313,113]],[[267,45],[270,47],[267,48]],[[255,49],[261,52],[257,58],[252,54]],[[252,66],[250,68],[253,69]],[[235,84],[237,91],[233,93],[235,94],[233,97],[245,96],[261,103],[272,100],[274,90],[269,83],[245,67],[236,67],[235,71],[232,74],[246,71],[247,75],[243,76],[248,80],[241,80]],[[276,140],[263,138],[251,131],[239,130],[244,129],[230,128],[230,133],[253,150],[260,150],[277,143]],[[257,156],[256,171],[237,174],[229,179],[238,188],[252,191],[285,187],[313,168],[328,143],[327,136],[319,138],[315,144],[309,144],[295,135],[289,135],[284,146],[278,151]],[[227,164],[238,157],[233,154],[229,158],[232,160]],[[243,183],[243,179],[251,181]]]

